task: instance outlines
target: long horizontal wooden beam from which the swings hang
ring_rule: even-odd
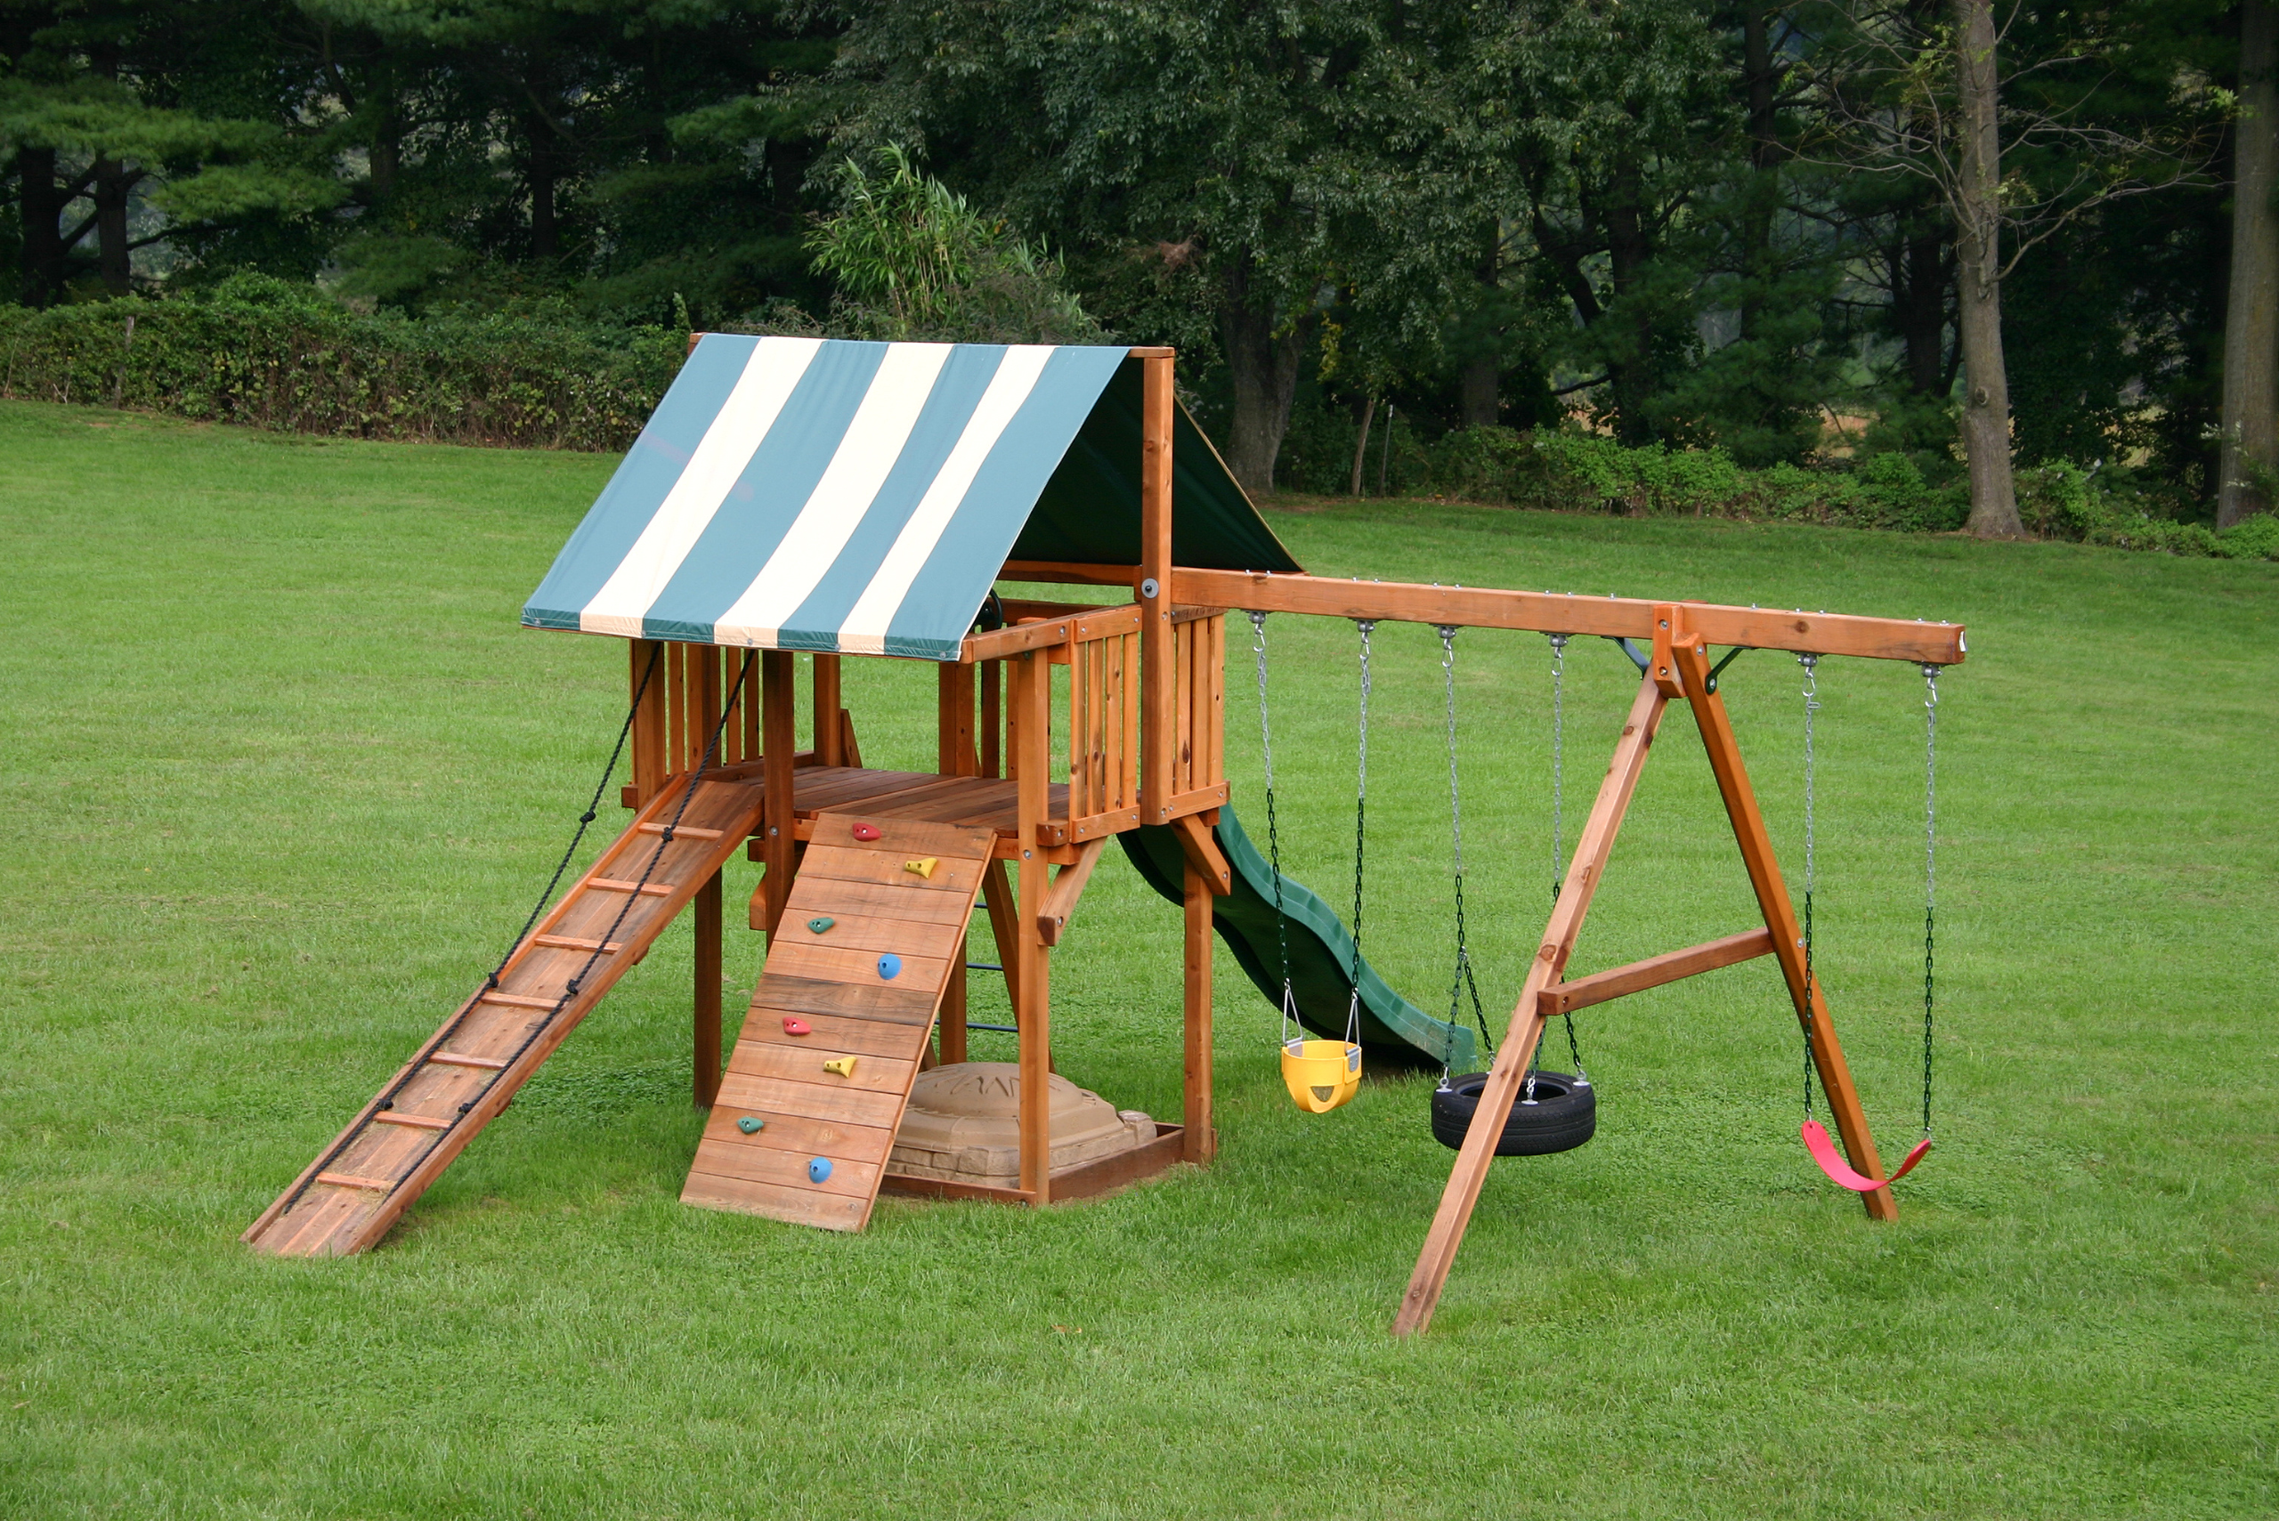
[[[1459,628],[1522,628],[1620,640],[1650,640],[1655,635],[1655,608],[1673,606],[1645,597],[1506,592],[1472,585],[1345,581],[1338,576],[1279,576],[1269,572],[1187,567],[1176,567],[1171,583],[1178,601],[1258,612],[1313,612],[1320,617],[1456,624]],[[1684,628],[1671,633],[1698,633],[1707,644],[1787,649],[1816,656],[1862,656],[1867,660],[1912,660],[1917,665],[1960,665],[1969,653],[1962,640],[1962,624],[1805,612],[1803,608],[1730,608],[1707,601],[1680,601],[1675,606],[1684,619]]]

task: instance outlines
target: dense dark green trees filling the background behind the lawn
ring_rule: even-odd
[[[2017,460],[2124,471],[2160,519],[2206,519],[2217,485],[2240,9],[2019,11],[2001,41]],[[1390,405],[1402,460],[1573,419],[1673,460],[1835,462],[1828,501],[1896,478],[1887,453],[1946,492],[1946,16],[0,0],[0,255],[36,310],[232,291],[144,303],[139,346],[212,330],[242,271],[310,294],[262,287],[296,330],[360,335],[353,376],[260,351],[223,369],[312,373],[185,392],[232,417],[599,442],[670,348],[650,328],[1119,337],[1183,348],[1253,485],[1349,487]],[[499,314],[536,328],[504,342]],[[41,394],[105,389],[109,337],[57,357],[80,323],[121,319],[9,319]],[[508,355],[529,373],[474,378]],[[141,364],[130,398],[173,385]],[[422,373],[451,380],[415,401]],[[1395,478],[1383,442],[1363,485]]]

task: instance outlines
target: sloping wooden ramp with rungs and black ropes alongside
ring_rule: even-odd
[[[340,1257],[387,1234],[759,827],[759,786],[700,781],[659,854],[686,792],[675,781],[640,811],[515,947],[499,986],[460,1004],[246,1230],[251,1245]],[[579,988],[563,1002],[570,979]]]

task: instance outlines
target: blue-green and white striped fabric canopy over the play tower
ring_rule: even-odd
[[[1294,572],[1174,430],[1174,558]],[[1137,565],[1124,348],[697,342],[531,594],[531,628],[955,660],[1007,558]]]

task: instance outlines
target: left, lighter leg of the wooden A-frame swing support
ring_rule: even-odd
[[[1520,1079],[1527,1075],[1536,1038],[1543,1034],[1543,988],[1566,975],[1568,956],[1575,954],[1575,936],[1582,934],[1582,920],[1591,911],[1591,895],[1607,870],[1614,836],[1623,829],[1623,813],[1629,811],[1629,799],[1639,790],[1639,772],[1645,770],[1645,756],[1652,751],[1666,708],[1668,697],[1661,694],[1661,688],[1648,674],[1639,683],[1636,701],[1629,704],[1623,738],[1614,747],[1614,760],[1607,765],[1607,779],[1598,788],[1598,801],[1591,804],[1591,817],[1575,838],[1575,861],[1568,868],[1559,904],[1543,929],[1543,945],[1536,947],[1536,959],[1527,965],[1520,1002],[1511,1011],[1511,1029],[1504,1031],[1504,1045],[1495,1052],[1488,1086],[1479,1095],[1472,1127],[1463,1134],[1463,1150],[1456,1154],[1456,1166],[1449,1168],[1447,1189],[1440,1193],[1440,1209],[1424,1234],[1424,1250],[1418,1255],[1415,1273],[1408,1275],[1408,1293],[1402,1296],[1402,1309],[1392,1318],[1395,1337],[1406,1337],[1431,1325],[1440,1289],[1447,1284],[1449,1268],[1456,1266],[1456,1248],[1463,1245],[1463,1227],[1472,1220],[1479,1186],[1488,1179],[1488,1164],[1495,1161],[1495,1141],[1504,1134],[1504,1120],[1511,1118],[1511,1102],[1520,1093]]]

